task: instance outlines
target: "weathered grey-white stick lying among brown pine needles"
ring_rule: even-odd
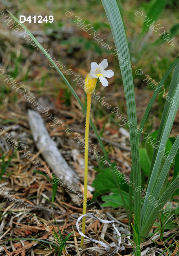
[[[66,160],[58,150],[55,141],[51,140],[41,115],[31,109],[28,109],[27,113],[36,147],[38,150],[42,150],[41,154],[55,176],[65,183],[62,187],[66,188],[66,192],[70,195],[72,201],[77,205],[81,205],[82,200],[78,198],[78,192],[82,192],[83,190],[80,178],[68,166]]]

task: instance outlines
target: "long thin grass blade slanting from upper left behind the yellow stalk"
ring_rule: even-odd
[[[8,12],[9,12],[9,11],[8,11]],[[25,29],[25,31],[27,31],[27,33],[29,34],[29,36],[30,36],[30,37],[34,40],[34,42],[41,48],[41,51],[45,54],[45,56],[48,57],[48,60],[51,62],[51,64],[52,64],[53,66],[55,66],[54,61],[48,56],[48,53],[45,51],[45,49],[42,47],[42,45],[39,44],[39,42],[35,39],[35,37],[32,35],[32,33],[24,26],[24,24],[20,23],[19,20],[18,20],[11,12],[9,12],[9,13],[10,13],[11,17],[12,17],[20,26],[22,26],[22,27]],[[73,93],[75,99],[76,99],[76,100],[78,101],[78,103],[80,104],[84,115],[86,115],[86,110],[85,110],[85,108],[84,108],[84,106],[83,106],[81,100],[78,98],[77,94],[75,93],[74,89],[73,89],[72,86],[69,84],[69,82],[67,81],[66,77],[62,74],[61,70],[60,70],[57,66],[55,66],[54,68],[57,70],[58,74],[62,77],[62,79],[64,80],[64,82],[66,83],[66,85],[68,86],[68,88],[70,89],[70,91]],[[103,153],[104,153],[104,155],[105,155],[106,160],[110,163],[109,158],[108,158],[108,155],[107,155],[107,152],[106,152],[105,147],[104,147],[104,145],[103,145],[103,143],[102,143],[102,140],[101,140],[99,134],[97,133],[97,129],[96,129],[95,125],[92,123],[91,119],[90,119],[90,125],[91,125],[91,127],[93,128],[93,131],[94,131],[94,133],[95,133],[95,135],[96,135],[96,137],[97,137],[97,140],[99,141],[99,144],[100,144],[100,146],[101,146],[101,148],[102,148],[102,150],[103,150]],[[113,174],[113,178],[114,178],[114,180],[115,180],[115,182],[116,182],[116,186],[117,186],[117,188],[118,188],[118,190],[119,190],[119,193],[120,193],[122,202],[123,202],[123,204],[124,204],[124,207],[125,207],[126,212],[127,212],[127,215],[128,215],[128,207],[127,207],[127,205],[126,205],[126,203],[125,203],[124,196],[123,196],[123,194],[122,194],[122,190],[121,190],[121,188],[120,188],[120,186],[119,186],[119,182],[118,182],[118,180],[117,180],[117,178],[116,178],[116,175],[115,175],[113,172],[112,172],[112,174]]]

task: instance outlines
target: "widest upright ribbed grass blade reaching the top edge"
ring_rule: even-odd
[[[134,214],[137,223],[140,227],[140,213],[141,213],[141,193],[136,191],[137,187],[141,187],[141,174],[140,174],[140,157],[139,157],[139,140],[138,134],[135,132],[137,129],[136,118],[136,102],[134,94],[134,84],[132,78],[132,71],[127,66],[123,67],[121,58],[128,61],[130,64],[130,56],[128,50],[128,43],[125,35],[124,26],[121,19],[121,14],[115,0],[101,0],[107,14],[109,24],[113,33],[114,43],[116,49],[119,49],[118,59],[121,66],[121,75],[124,85],[126,96],[126,105],[128,112],[128,120],[133,124],[129,128],[130,143],[131,143],[131,157],[133,168],[133,181],[134,181]]]

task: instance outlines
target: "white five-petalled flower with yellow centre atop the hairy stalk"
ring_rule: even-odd
[[[91,71],[89,76],[94,78],[99,78],[101,84],[103,86],[108,86],[108,80],[105,78],[110,78],[114,76],[114,72],[111,69],[105,70],[107,68],[108,62],[107,59],[101,61],[101,63],[97,64],[96,62],[91,62]]]

